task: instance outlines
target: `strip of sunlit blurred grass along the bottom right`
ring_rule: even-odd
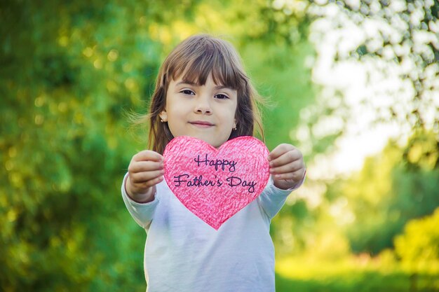
[[[439,292],[439,274],[412,274],[396,263],[350,258],[276,263],[276,292]]]

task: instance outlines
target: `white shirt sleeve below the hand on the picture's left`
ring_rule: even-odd
[[[157,204],[159,202],[158,195],[155,195],[154,200],[152,200],[151,202],[135,202],[126,193],[125,182],[127,178],[128,174],[123,177],[122,181],[121,193],[123,202],[125,202],[126,208],[130,212],[131,216],[133,216],[136,223],[139,224],[142,228],[148,229],[154,216],[154,211],[156,210]]]

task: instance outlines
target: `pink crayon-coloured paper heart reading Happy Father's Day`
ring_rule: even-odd
[[[270,176],[268,155],[254,137],[231,139],[216,149],[180,136],[165,148],[164,176],[178,200],[218,230],[262,193]]]

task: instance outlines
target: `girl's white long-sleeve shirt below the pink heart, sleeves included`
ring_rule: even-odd
[[[166,181],[158,183],[152,202],[140,204],[126,194],[125,180],[123,201],[147,231],[147,292],[275,290],[269,225],[292,190],[269,181],[256,200],[215,230],[184,207]]]

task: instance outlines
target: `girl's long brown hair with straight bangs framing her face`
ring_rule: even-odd
[[[175,47],[158,71],[149,114],[138,120],[139,123],[149,120],[149,148],[163,153],[168,142],[173,139],[168,123],[162,123],[158,116],[165,109],[170,81],[182,76],[184,81],[204,85],[210,74],[216,84],[232,88],[238,93],[236,130],[231,132],[229,139],[252,136],[255,132],[264,139],[258,108],[262,98],[245,74],[238,53],[229,42],[200,34],[190,36]]]

